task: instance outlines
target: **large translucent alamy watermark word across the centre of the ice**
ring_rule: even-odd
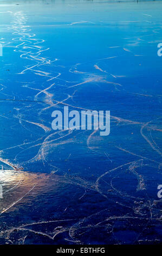
[[[55,110],[51,114],[54,120],[51,123],[53,130],[100,130],[100,136],[110,133],[110,111],[73,110],[69,112],[68,106]]]

